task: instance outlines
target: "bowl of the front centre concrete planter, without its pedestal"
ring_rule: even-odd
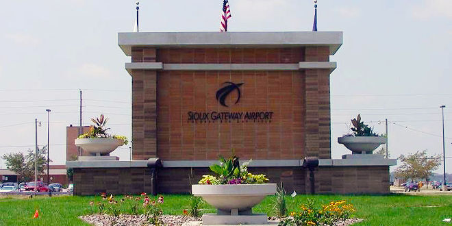
[[[251,211],[267,195],[276,193],[276,184],[221,184],[192,185],[192,194],[201,196],[218,210],[229,212]]]

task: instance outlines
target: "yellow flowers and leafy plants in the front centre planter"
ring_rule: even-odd
[[[220,164],[210,166],[210,171],[216,174],[203,175],[198,184],[264,184],[268,179],[265,175],[253,175],[248,173],[248,165],[251,160],[244,162],[241,166],[236,155],[229,159],[220,157]]]

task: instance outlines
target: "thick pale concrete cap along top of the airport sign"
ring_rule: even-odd
[[[334,55],[342,45],[342,32],[127,32],[118,33],[125,55],[131,47],[232,48],[329,47]]]

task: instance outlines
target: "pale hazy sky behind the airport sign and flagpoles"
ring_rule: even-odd
[[[140,32],[216,32],[221,0],[140,1]],[[130,62],[117,45],[132,32],[136,1],[43,0],[0,3],[0,155],[34,149],[66,160],[66,126],[103,113],[113,134],[131,137]],[[313,2],[230,0],[229,32],[310,31]],[[318,0],[318,31],[344,32],[330,60],[331,153],[349,154],[337,138],[350,119],[385,133],[391,158],[427,149],[442,153],[442,112],[447,173],[452,173],[452,1]],[[129,148],[112,155],[129,160]],[[0,168],[5,168],[0,159]],[[394,167],[391,167],[393,170]],[[442,166],[436,171],[442,173]]]

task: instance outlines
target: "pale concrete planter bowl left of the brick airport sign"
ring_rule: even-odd
[[[108,155],[117,147],[124,144],[124,140],[114,138],[77,138],[75,146],[81,147],[91,155]]]

